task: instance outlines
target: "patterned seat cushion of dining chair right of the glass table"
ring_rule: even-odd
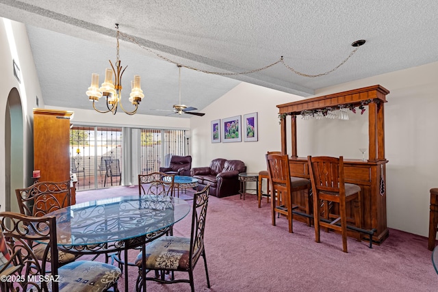
[[[190,238],[165,236],[146,246],[146,269],[187,271],[189,268]],[[142,252],[136,261],[142,266]]]

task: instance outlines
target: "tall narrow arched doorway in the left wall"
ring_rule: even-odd
[[[27,181],[24,170],[23,107],[18,90],[12,88],[5,113],[5,210],[19,213],[15,189]]]

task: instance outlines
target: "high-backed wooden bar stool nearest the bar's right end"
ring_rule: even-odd
[[[337,230],[342,233],[342,250],[347,250],[347,212],[346,204],[353,202],[356,227],[361,228],[361,187],[345,183],[344,158],[337,157],[307,157],[309,173],[313,189],[313,219],[315,222],[315,241],[320,242],[320,226]],[[323,203],[322,203],[323,202]],[[333,203],[339,204],[339,214],[331,212]],[[321,204],[324,207],[324,220],[321,219]],[[332,207],[330,207],[330,205]],[[338,222],[340,221],[340,226]],[[361,233],[357,233],[361,241]]]

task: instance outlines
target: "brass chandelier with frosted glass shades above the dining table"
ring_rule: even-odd
[[[107,112],[112,112],[112,114],[116,114],[118,105],[120,108],[125,111],[125,114],[133,115],[136,114],[138,109],[138,104],[142,101],[144,97],[143,90],[140,87],[140,76],[134,75],[134,80],[131,81],[131,94],[129,95],[129,101],[136,108],[133,111],[126,111],[122,105],[122,75],[125,72],[127,66],[123,68],[120,66],[120,55],[119,55],[119,31],[118,31],[118,23],[116,23],[117,29],[117,55],[116,55],[116,68],[114,68],[111,60],[110,64],[112,69],[107,68],[105,71],[105,82],[102,83],[101,88],[99,88],[99,74],[92,73],[91,75],[91,86],[88,88],[86,94],[90,101],[93,101],[93,108],[95,111],[99,113],[105,114]],[[112,75],[114,73],[115,82],[112,79]],[[99,98],[105,96],[107,103],[107,110],[101,111],[96,109],[95,103],[99,101]]]

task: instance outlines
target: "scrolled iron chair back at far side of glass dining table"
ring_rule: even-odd
[[[138,174],[138,194],[173,196],[175,188],[175,174],[151,172]]]

